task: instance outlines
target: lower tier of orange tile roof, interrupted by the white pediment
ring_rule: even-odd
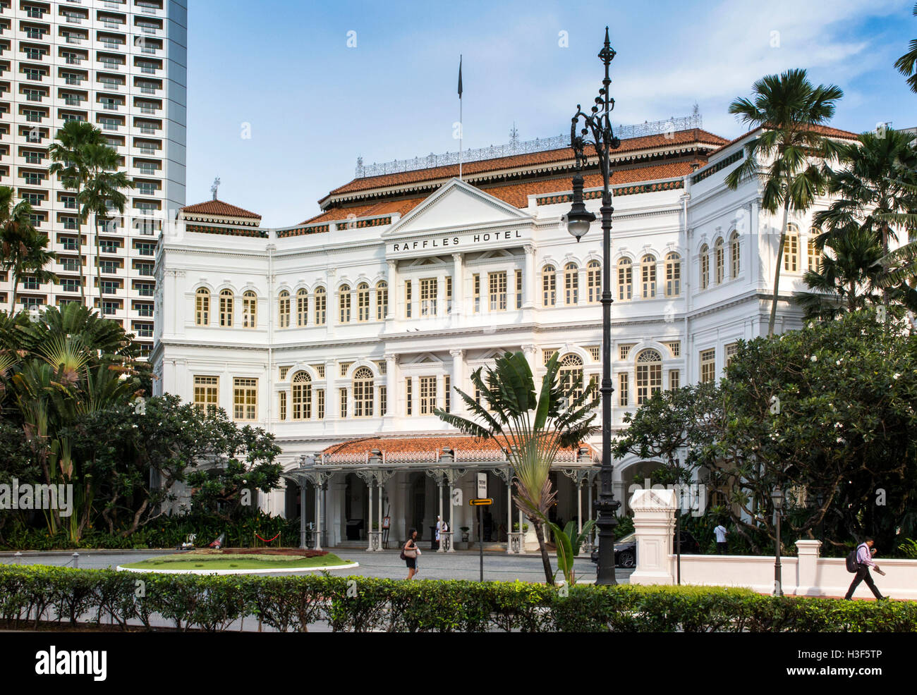
[[[650,166],[637,165],[616,168],[613,170],[612,185],[617,185],[619,183],[657,181],[659,179],[673,179],[690,174],[696,167],[702,167],[704,164],[706,164],[706,162],[703,160],[693,160],[672,161]],[[586,174],[583,179],[586,188],[598,188],[602,185],[602,174],[599,173]],[[481,185],[478,186],[478,188],[480,188],[481,191],[490,193],[495,198],[500,198],[504,203],[523,208],[528,206],[529,195],[545,195],[547,193],[569,191],[571,185],[569,175],[564,175],[553,179],[521,181],[505,185]],[[305,222],[301,224],[306,225],[330,220],[343,220],[347,219],[348,215],[368,217],[371,215],[384,215],[386,213],[399,213],[404,216],[413,210],[416,205],[423,203],[425,200],[426,197],[424,196],[419,198],[382,201],[381,203],[352,205],[348,207],[332,207],[320,215],[315,215],[315,217],[305,220]]]

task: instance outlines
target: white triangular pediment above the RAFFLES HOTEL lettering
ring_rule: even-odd
[[[520,222],[531,219],[514,205],[505,203],[469,183],[452,179],[383,233],[383,237],[473,225]]]

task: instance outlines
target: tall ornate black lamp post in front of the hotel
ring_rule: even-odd
[[[590,114],[584,114],[581,106],[570,121],[570,146],[576,154],[576,173],[573,176],[573,207],[565,215],[567,230],[576,240],[589,231],[595,221],[595,215],[586,210],[583,204],[582,168],[587,163],[585,149],[592,146],[599,159],[602,170],[602,476],[599,499],[595,501],[595,510],[599,513],[596,525],[599,527],[599,568],[597,584],[615,584],[614,580],[614,526],[617,520],[614,513],[621,502],[614,500],[612,488],[612,193],[609,188],[611,172],[611,150],[621,147],[621,140],[614,137],[611,112],[614,100],[609,96],[608,67],[614,58],[614,50],[608,40],[608,28],[605,27],[605,45],[599,51],[599,58],[605,66],[605,78],[602,89],[595,97],[595,105]],[[580,127],[582,119],[582,127]]]

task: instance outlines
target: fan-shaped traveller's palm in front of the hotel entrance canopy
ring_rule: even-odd
[[[595,384],[583,388],[581,374],[558,379],[558,353],[548,361],[537,394],[535,378],[521,351],[503,354],[484,375],[482,369],[471,374],[481,403],[456,389],[474,419],[439,408],[434,413],[461,432],[496,439],[506,452],[516,481],[514,499],[532,520],[545,579],[553,585],[544,524],[557,492],[551,489],[548,473],[559,449],[578,446],[598,429],[592,425],[592,410],[598,404]]]

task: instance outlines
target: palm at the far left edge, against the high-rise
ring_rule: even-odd
[[[39,282],[56,280],[56,276],[45,266],[54,259],[53,251],[47,250],[48,237],[39,234],[32,225],[32,206],[28,201],[12,205],[12,189],[0,188],[0,267],[13,277],[13,292],[9,298],[9,313],[16,310],[16,294],[23,275],[30,275]]]

